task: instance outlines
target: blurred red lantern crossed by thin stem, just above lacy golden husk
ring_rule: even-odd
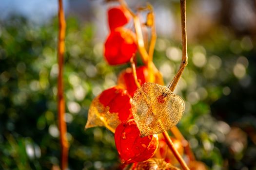
[[[148,82],[148,69],[145,66],[138,67],[136,72],[140,85]],[[137,85],[134,81],[132,68],[126,68],[119,74],[118,85],[127,89],[128,93],[133,97],[134,92],[137,90]]]

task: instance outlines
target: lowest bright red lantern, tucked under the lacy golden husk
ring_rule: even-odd
[[[158,135],[141,137],[135,121],[131,119],[118,125],[115,142],[122,163],[129,164],[151,158],[158,147]]]

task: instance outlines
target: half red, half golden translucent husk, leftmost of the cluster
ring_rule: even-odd
[[[104,90],[92,101],[85,128],[105,126],[114,133],[118,124],[133,118],[131,102],[127,90],[119,86]]]

